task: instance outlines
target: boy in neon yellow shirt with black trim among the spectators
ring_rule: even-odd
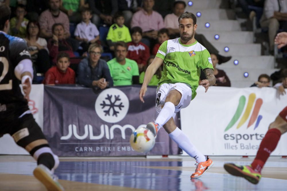
[[[107,35],[107,43],[110,50],[115,50],[115,43],[119,41],[131,42],[129,28],[124,25],[125,18],[123,13],[117,12],[114,16],[114,24],[110,26]]]

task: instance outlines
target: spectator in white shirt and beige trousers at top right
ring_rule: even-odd
[[[266,0],[263,15],[260,20],[261,27],[268,27],[270,54],[274,53],[274,38],[278,29],[287,31],[287,0]],[[280,26],[281,25],[281,26]]]

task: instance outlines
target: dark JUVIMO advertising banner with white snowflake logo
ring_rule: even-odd
[[[156,87],[139,100],[140,86],[103,91],[70,86],[45,86],[44,134],[59,156],[146,155],[133,151],[129,138],[156,118]],[[180,127],[180,122],[177,120]],[[178,146],[162,128],[148,155],[174,155]]]

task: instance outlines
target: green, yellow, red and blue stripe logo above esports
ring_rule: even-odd
[[[258,98],[256,101],[256,94],[255,93],[251,93],[248,97],[248,102],[247,102],[247,106],[245,108],[245,111],[243,113],[243,109],[245,107],[245,103],[246,103],[246,97],[245,96],[241,96],[239,98],[239,103],[237,106],[237,109],[235,111],[235,114],[233,115],[231,121],[228,123],[228,125],[226,126],[224,131],[228,131],[231,127],[233,127],[233,125],[238,121],[238,119],[240,118],[241,114],[243,113],[236,129],[239,129],[249,118],[250,114],[251,117],[249,119],[247,128],[249,128],[251,125],[253,125],[255,123],[255,127],[254,129],[256,129],[262,119],[262,115],[258,115],[260,108],[263,104],[263,100],[261,98]],[[254,108],[253,108],[254,105]],[[251,113],[251,110],[253,108],[253,112]],[[256,120],[257,119],[257,120]]]

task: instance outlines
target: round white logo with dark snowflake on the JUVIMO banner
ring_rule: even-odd
[[[129,110],[129,99],[116,88],[102,91],[95,103],[97,115],[108,123],[117,123],[125,118]]]

